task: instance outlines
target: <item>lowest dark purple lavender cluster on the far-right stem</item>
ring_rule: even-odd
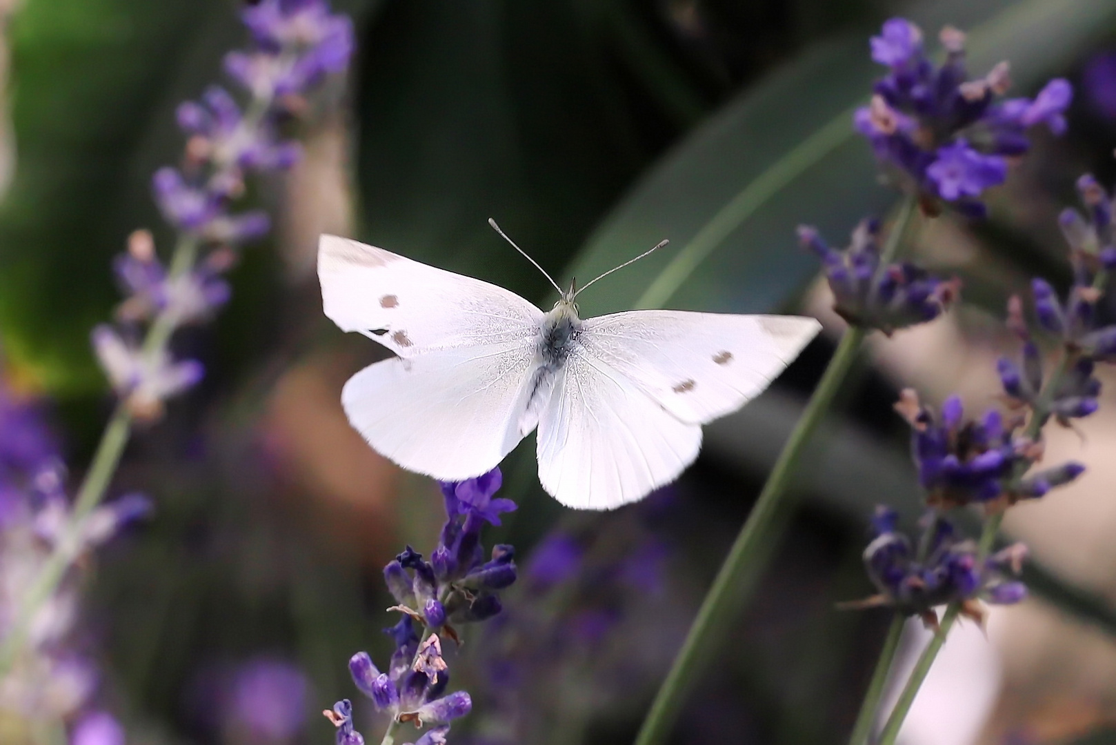
[[[879,594],[846,603],[846,608],[886,605],[918,615],[933,628],[937,624],[933,609],[939,605],[960,602],[963,613],[981,621],[984,611],[979,601],[1008,604],[1026,598],[1026,586],[1014,579],[1026,556],[1022,544],[981,562],[975,543],[959,538],[953,524],[936,513],[922,520],[917,551],[911,538],[895,529],[896,523],[893,510],[876,509],[876,532],[865,548],[864,563]]]

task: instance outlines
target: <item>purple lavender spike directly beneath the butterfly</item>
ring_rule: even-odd
[[[430,561],[407,546],[384,567],[384,580],[400,622],[384,632],[395,642],[387,670],[381,672],[367,652],[349,660],[356,687],[376,710],[391,717],[391,727],[414,723],[433,725],[414,745],[442,745],[450,723],[469,714],[472,699],[450,682],[443,639],[460,644],[456,625],[485,621],[500,613],[499,591],[517,576],[514,551],[497,545],[485,561],[481,531],[500,525],[500,515],[516,509],[510,499],[494,498],[502,485],[499,468],[460,483],[443,483],[446,522]],[[353,705],[344,699],[326,716],[337,727],[337,745],[363,745],[353,725]]]

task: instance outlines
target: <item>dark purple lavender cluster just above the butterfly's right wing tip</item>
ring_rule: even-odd
[[[960,283],[943,281],[910,262],[881,264],[879,223],[864,220],[845,250],[830,248],[815,228],[798,229],[799,241],[821,258],[834,294],[834,311],[855,326],[891,334],[941,315]]]

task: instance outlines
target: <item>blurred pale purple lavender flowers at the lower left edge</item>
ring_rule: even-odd
[[[145,497],[127,495],[94,509],[70,535],[64,529],[71,513],[65,477],[41,408],[0,388],[0,638],[12,632],[19,603],[51,554],[85,556],[150,512]],[[75,743],[123,745],[121,726],[96,708],[97,669],[76,641],[77,580],[68,574],[38,609],[27,642],[0,676],[3,742],[26,742],[42,722],[74,722]]]

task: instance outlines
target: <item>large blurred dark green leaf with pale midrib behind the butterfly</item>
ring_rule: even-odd
[[[908,15],[927,36],[946,22],[969,29],[971,69],[1010,59],[1017,87],[1027,89],[1110,28],[1116,3],[950,0]],[[816,271],[796,248],[796,225],[817,225],[838,241],[894,199],[852,128],[852,112],[881,73],[865,37],[808,50],[664,157],[600,225],[570,274],[590,278],[664,237],[674,243],[583,305],[591,313],[664,305],[757,312],[790,303]]]

